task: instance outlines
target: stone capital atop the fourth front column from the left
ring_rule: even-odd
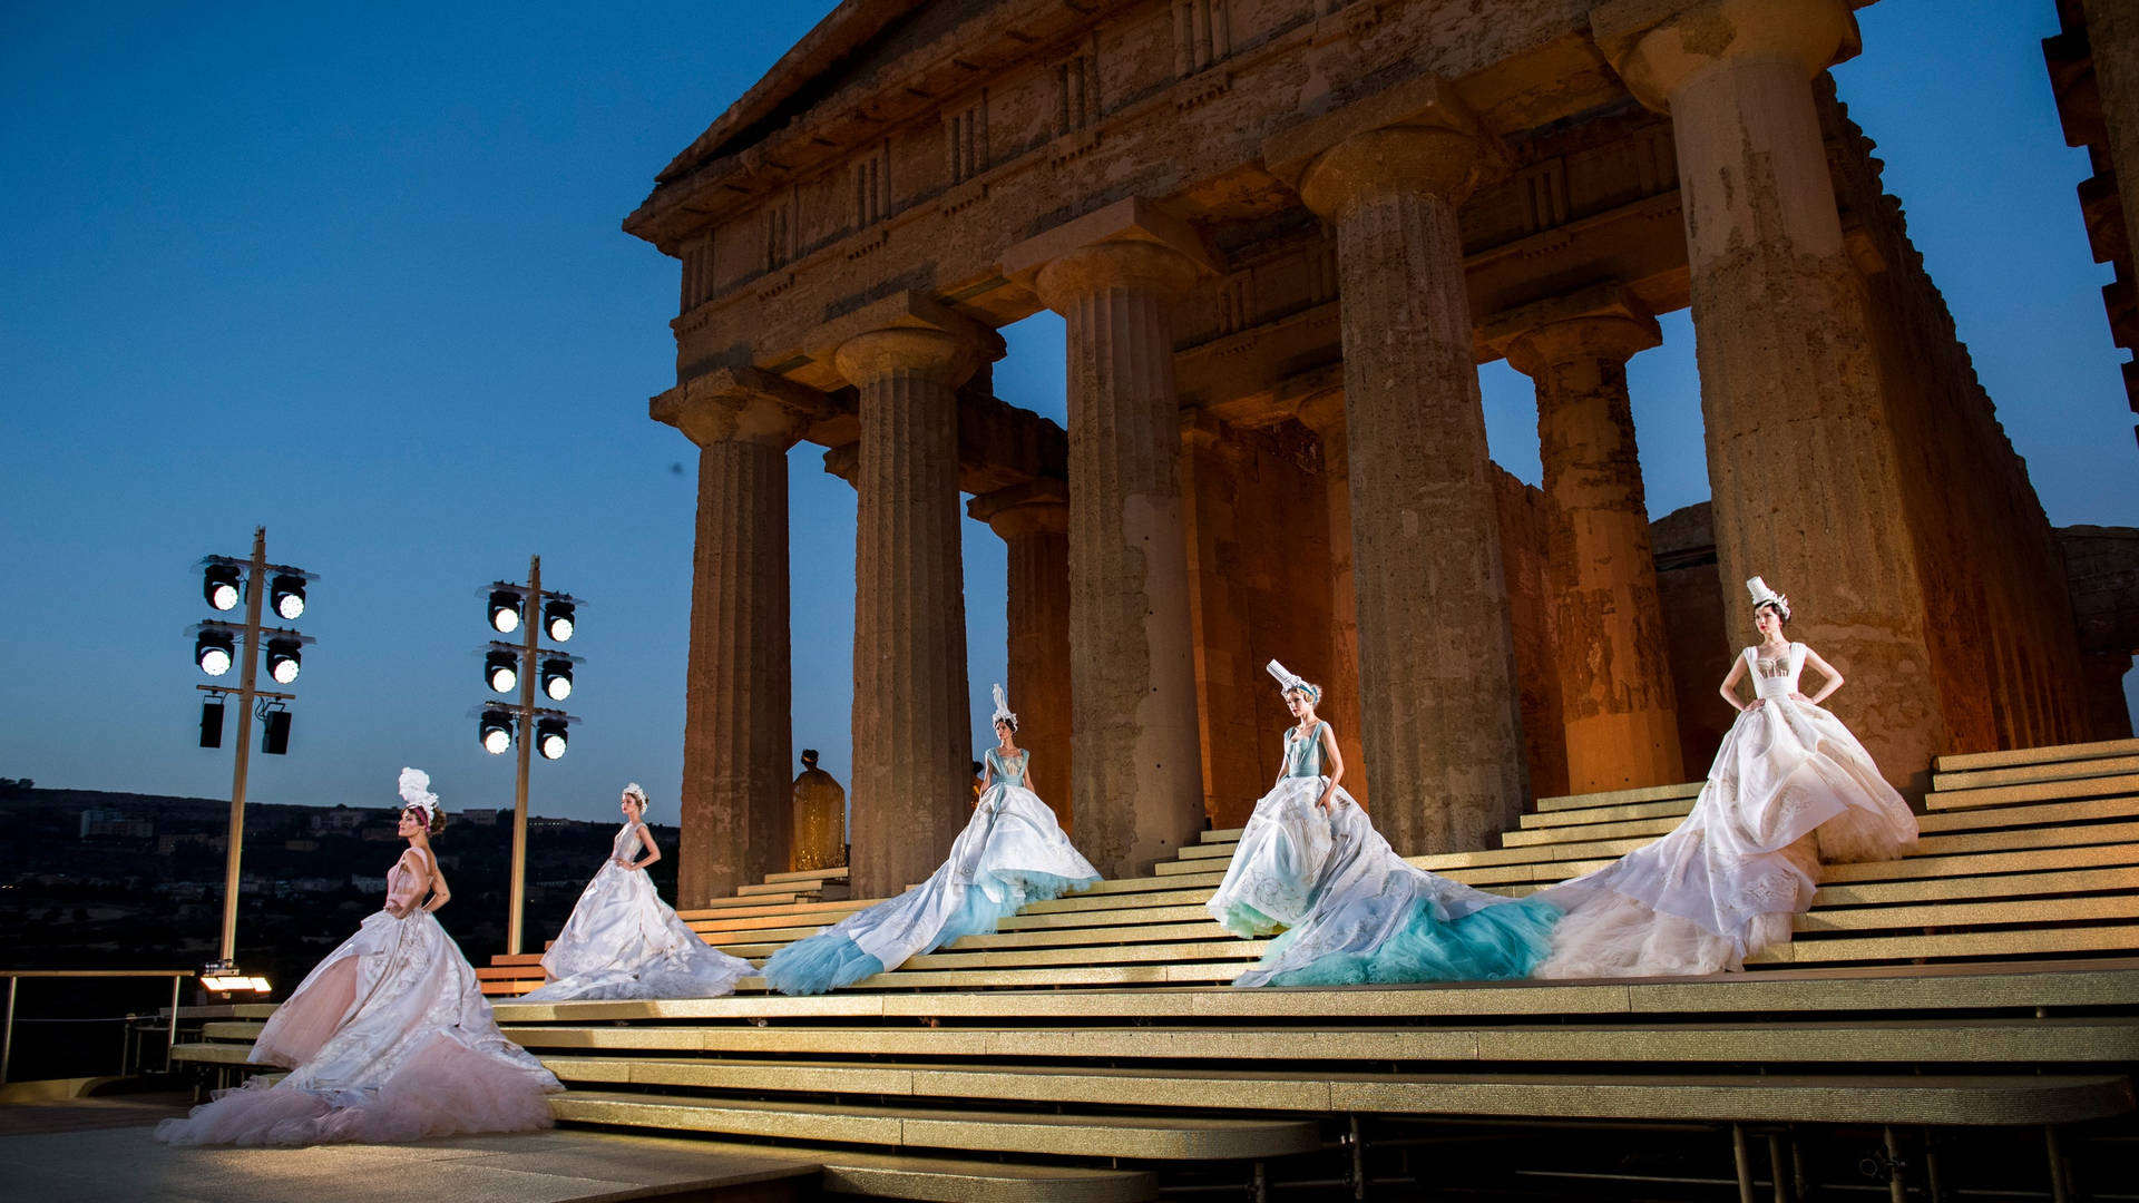
[[[1437,75],[1405,79],[1262,139],[1271,173],[1330,220],[1360,199],[1397,191],[1459,205],[1499,158],[1499,146]]]

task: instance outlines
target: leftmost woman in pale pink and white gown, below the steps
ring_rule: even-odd
[[[430,852],[445,826],[430,777],[402,768],[400,792],[409,848],[387,871],[385,910],[329,953],[252,1042],[252,1064],[291,1072],[216,1092],[188,1117],[158,1124],[158,1141],[387,1143],[550,1126],[543,1096],[565,1087],[498,1032],[475,970],[432,918],[451,890]]]

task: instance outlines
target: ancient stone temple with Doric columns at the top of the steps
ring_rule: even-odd
[[[838,4],[627,220],[680,261],[650,409],[699,447],[680,899],[789,863],[798,441],[858,492],[858,897],[965,822],[960,505],[1010,548],[1044,796],[1110,878],[1245,818],[1273,655],[1328,687],[1403,854],[1698,777],[1752,574],[1904,792],[1934,756],[2130,734],[2133,533],[2045,520],[1835,101],[1857,6]],[[2120,21],[2049,64],[2133,325]],[[1067,430],[990,387],[1040,308]],[[1713,497],[1651,522],[1626,362],[1679,308]],[[1487,458],[1502,357],[1542,488]]]

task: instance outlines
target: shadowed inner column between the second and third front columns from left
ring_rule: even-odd
[[[1010,709],[1018,747],[1033,753],[1040,796],[1072,831],[1070,779],[1070,490],[1035,479],[975,497],[965,507],[1010,546]]]

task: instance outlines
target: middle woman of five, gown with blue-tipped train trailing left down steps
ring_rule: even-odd
[[[1025,903],[1089,888],[1091,861],[1070,846],[1055,811],[1031,790],[1031,753],[1018,749],[1018,717],[995,687],[995,736],[982,760],[986,790],[926,882],[849,914],[834,927],[781,948],[766,961],[766,985],[781,993],[824,993],[898,968],[980,931],[995,931]]]

